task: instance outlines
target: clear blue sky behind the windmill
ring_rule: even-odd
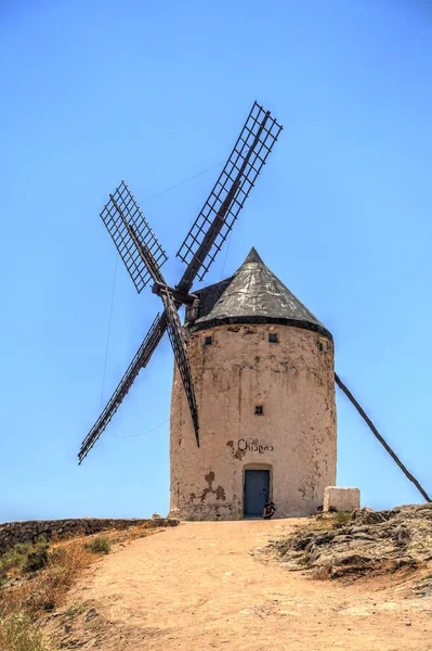
[[[116,251],[99,214],[126,179],[175,282],[219,170],[154,195],[223,163],[256,99],[285,129],[206,281],[256,245],[432,492],[428,5],[1,3],[0,521],[167,512],[168,340],[77,465],[160,308],[119,264],[104,379]],[[421,500],[340,394],[338,436],[338,483],[365,505]]]

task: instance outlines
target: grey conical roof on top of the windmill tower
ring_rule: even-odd
[[[226,323],[282,323],[314,330],[332,339],[318,319],[264,265],[254,248],[231,279],[211,285],[208,292],[208,298],[214,296],[210,301],[211,308],[204,289],[198,292],[204,304],[199,314],[204,316],[187,323],[192,331]],[[206,304],[210,309],[202,309]]]

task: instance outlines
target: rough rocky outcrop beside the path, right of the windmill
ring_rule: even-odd
[[[432,505],[314,518],[289,536],[273,540],[269,550],[289,570],[309,570],[317,578],[426,569],[432,561]],[[432,573],[418,591],[432,593]]]

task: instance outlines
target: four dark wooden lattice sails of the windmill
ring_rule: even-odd
[[[167,284],[160,269],[168,259],[167,255],[125,181],[109,195],[101,213],[102,220],[138,293],[153,281],[152,291],[160,296],[163,311],[156,316],[105,409],[82,442],[79,463],[108,425],[167,330],[187,397],[196,444],[199,446],[198,408],[178,310],[196,299],[192,292],[194,282],[196,278],[202,280],[214,261],[282,128],[270,111],[253,103],[225,166],[176,254],[186,264],[186,269],[174,286]]]

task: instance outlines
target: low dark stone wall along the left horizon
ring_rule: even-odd
[[[0,524],[0,556],[17,542],[32,542],[39,536],[61,540],[74,536],[91,536],[108,529],[125,529],[130,526],[146,525],[148,527],[175,526],[178,520],[117,520],[83,518],[79,520],[30,520],[28,522],[6,522]]]

